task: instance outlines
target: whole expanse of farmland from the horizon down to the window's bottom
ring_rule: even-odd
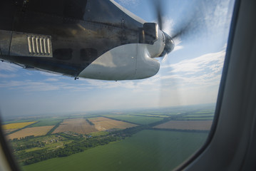
[[[32,125],[7,136],[15,135],[24,170],[170,170],[203,144],[213,113],[177,107],[31,117]]]

